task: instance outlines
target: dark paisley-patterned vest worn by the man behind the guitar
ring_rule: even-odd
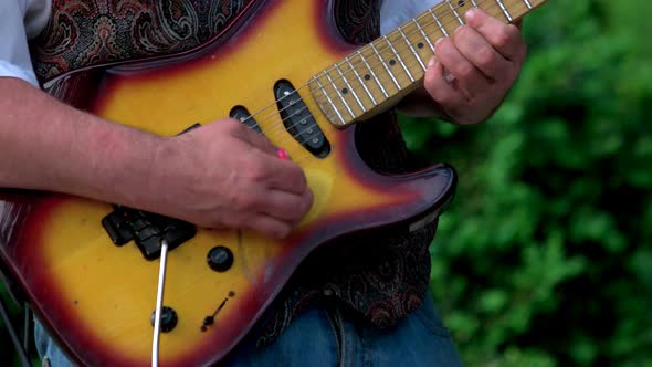
[[[260,0],[53,0],[50,22],[31,43],[34,69],[46,82],[81,67],[186,51],[212,41]],[[379,34],[379,1],[334,0],[340,33],[364,44]],[[358,126],[358,147],[383,171],[408,168],[392,113]],[[437,223],[409,234],[349,238],[319,249],[297,270],[260,327],[273,340],[305,306],[340,300],[379,327],[418,307],[430,276],[429,244]],[[337,265],[336,265],[337,264]]]

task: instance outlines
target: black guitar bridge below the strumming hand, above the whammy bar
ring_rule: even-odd
[[[189,222],[122,206],[114,206],[114,211],[102,219],[102,227],[115,245],[134,240],[147,260],[160,256],[164,240],[172,250],[197,233]]]

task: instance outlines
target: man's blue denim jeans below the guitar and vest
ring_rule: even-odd
[[[71,366],[65,355],[36,323],[36,349],[50,366]],[[434,304],[425,302],[406,319],[379,331],[356,321],[337,305],[303,312],[265,347],[249,336],[223,360],[224,366],[462,366],[451,334]]]

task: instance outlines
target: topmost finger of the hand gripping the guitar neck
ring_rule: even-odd
[[[466,24],[477,31],[505,59],[520,61],[525,56],[525,42],[516,25],[505,24],[481,9],[465,13]]]

